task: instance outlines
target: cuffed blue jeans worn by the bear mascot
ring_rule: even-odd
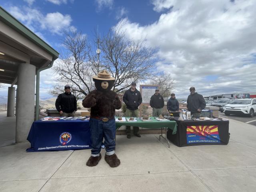
[[[115,118],[112,118],[106,122],[102,120],[90,118],[90,132],[92,142],[92,156],[98,156],[101,150],[103,138],[105,139],[104,145],[106,155],[112,155],[115,153],[116,142],[116,122]]]

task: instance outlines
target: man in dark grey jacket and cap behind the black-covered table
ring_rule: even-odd
[[[201,111],[205,108],[206,102],[204,97],[198,94],[194,87],[190,87],[190,95],[187,99],[187,109],[191,112],[194,118],[199,118],[201,116]]]

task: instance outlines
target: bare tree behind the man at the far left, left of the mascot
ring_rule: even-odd
[[[72,84],[73,92],[87,95],[94,88],[92,76],[96,74],[89,60],[93,58],[89,56],[90,46],[81,32],[72,31],[71,34],[65,34],[62,44],[66,50],[61,52],[60,60],[53,69],[58,74],[58,82]]]

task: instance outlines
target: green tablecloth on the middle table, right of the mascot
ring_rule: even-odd
[[[117,118],[117,117],[116,117]],[[130,117],[127,117],[129,119]],[[158,121],[155,117],[152,117],[152,121],[142,121],[139,118],[136,118],[136,122],[123,122],[119,121],[116,122],[116,130],[120,128],[120,126],[137,126],[137,127],[143,127],[148,129],[156,129],[156,128],[169,128],[172,131],[172,134],[176,134],[176,121]]]

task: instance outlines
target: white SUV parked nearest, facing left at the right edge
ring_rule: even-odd
[[[256,112],[256,99],[236,99],[232,103],[223,107],[225,115],[230,114],[248,114],[254,116]]]

